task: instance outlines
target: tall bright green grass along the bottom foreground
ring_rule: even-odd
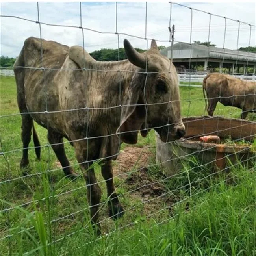
[[[195,173],[184,171],[184,176],[187,174],[192,181]],[[183,187],[182,175],[172,181],[176,187]],[[178,191],[180,200],[165,219],[141,216],[127,228],[113,223],[112,232],[102,237],[95,237],[90,228],[78,225],[77,232],[61,236],[63,240],[56,243],[50,237],[53,230],[49,221],[44,224],[47,219],[44,211],[17,208],[15,210],[26,213],[23,223],[19,224],[25,232],[9,238],[11,254],[253,255],[256,238],[254,180],[253,171],[234,168],[228,176],[208,180],[208,186],[204,179],[193,182],[192,197],[189,189]],[[26,230],[26,224],[32,225],[33,231]],[[8,249],[8,241],[4,242]],[[2,254],[6,254],[3,246],[4,243]]]

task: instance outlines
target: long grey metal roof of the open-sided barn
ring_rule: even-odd
[[[171,46],[160,51],[161,54],[171,58]],[[173,45],[173,59],[189,59],[189,58],[215,58],[226,60],[238,60],[256,62],[256,53],[246,52],[242,50],[230,50],[206,45],[189,44],[178,42]]]

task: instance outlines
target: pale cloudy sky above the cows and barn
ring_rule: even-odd
[[[185,6],[205,11],[206,13],[168,2],[148,2],[147,22],[145,2],[82,2],[80,16],[79,2],[39,2],[39,21],[41,36],[46,40],[72,46],[84,46],[87,52],[101,48],[123,47],[126,38],[137,48],[150,47],[150,40],[156,39],[158,46],[170,46],[169,20],[175,25],[175,42],[190,43],[209,41],[218,47],[237,49],[256,45],[256,4],[253,2],[179,2]],[[40,26],[36,2],[1,2],[1,15],[29,19],[26,21],[15,17],[0,17],[0,55],[16,57],[27,37],[40,37]],[[171,9],[171,10],[170,10]],[[209,15],[217,14],[222,17]],[[231,18],[247,22],[226,20]],[[78,28],[82,18],[83,30]],[[48,25],[47,25],[48,24]],[[60,26],[52,26],[60,25]],[[68,27],[72,26],[72,27]],[[239,36],[238,36],[239,28]],[[82,33],[83,32],[83,33]],[[119,34],[115,34],[118,32]],[[127,35],[123,35],[127,34]],[[141,39],[136,38],[141,37]],[[238,39],[238,40],[237,40]],[[174,42],[174,43],[175,43]]]

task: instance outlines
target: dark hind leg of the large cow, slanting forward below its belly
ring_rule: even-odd
[[[72,180],[77,177],[76,173],[74,173],[72,167],[70,167],[69,160],[67,159],[65,148],[63,145],[63,136],[59,134],[58,132],[55,132],[52,129],[48,129],[48,140],[49,143],[52,145],[52,149],[54,153],[56,154],[59,162],[61,163],[63,172],[65,175]],[[61,144],[59,144],[61,143]]]

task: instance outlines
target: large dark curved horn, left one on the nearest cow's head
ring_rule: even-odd
[[[128,60],[137,67],[146,68],[146,58],[144,54],[137,52],[127,39],[124,39],[124,50]]]

